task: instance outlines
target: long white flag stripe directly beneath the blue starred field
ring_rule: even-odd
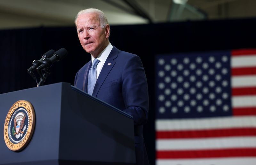
[[[203,130],[256,127],[255,116],[216,117],[203,119],[157,119],[156,130]]]

